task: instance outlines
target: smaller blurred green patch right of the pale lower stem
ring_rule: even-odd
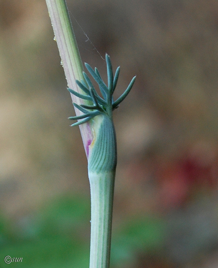
[[[111,264],[133,267],[138,256],[155,253],[163,247],[166,223],[152,215],[126,220],[112,233]]]

